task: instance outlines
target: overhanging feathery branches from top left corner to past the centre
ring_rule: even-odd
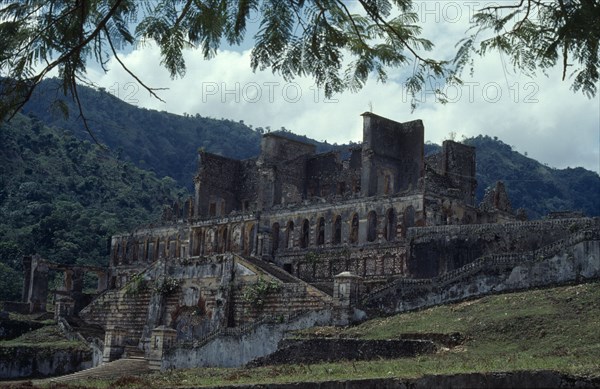
[[[158,97],[126,68],[119,49],[152,41],[171,77],[183,77],[184,49],[199,47],[209,59],[224,42],[241,44],[246,24],[256,17],[252,69],[271,69],[286,80],[310,76],[327,96],[358,90],[370,75],[385,81],[390,67],[414,68],[406,78],[414,94],[426,78],[453,79],[446,62],[424,56],[433,44],[421,37],[412,0],[359,0],[356,5],[357,13],[343,1],[321,0],[13,2],[0,9],[0,71],[9,77],[0,80],[0,118],[18,112],[52,70],[58,70],[61,91],[82,113],[77,81],[90,59],[107,70],[115,57]],[[136,26],[135,36],[130,26]],[[54,101],[69,111],[63,101]],[[84,122],[86,128],[91,123],[85,117]]]

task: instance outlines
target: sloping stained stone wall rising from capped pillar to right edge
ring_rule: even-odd
[[[600,230],[528,253],[496,254],[433,279],[401,279],[369,294],[367,309],[404,312],[487,294],[600,277]]]

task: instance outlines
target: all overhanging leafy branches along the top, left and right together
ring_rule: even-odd
[[[421,37],[413,0],[22,0],[0,10],[0,118],[14,115],[33,89],[57,69],[65,94],[79,104],[77,81],[87,61],[105,67],[114,57],[141,85],[155,89],[119,58],[125,46],[153,41],[172,77],[185,74],[183,50],[198,47],[206,58],[223,42],[240,44],[258,15],[252,69],[271,69],[286,79],[313,77],[328,96],[360,89],[371,74],[412,65],[406,88],[416,95],[430,77],[455,76],[491,49],[533,71],[562,61],[571,66],[573,89],[594,96],[598,81],[600,6],[596,0],[520,0],[481,9],[476,32],[454,62],[428,58],[433,43]],[[535,10],[535,12],[534,12]],[[535,14],[535,18],[533,15]],[[491,37],[482,39],[491,32]],[[443,97],[443,96],[442,96]],[[413,107],[416,101],[413,98]],[[81,107],[79,104],[79,111]],[[85,117],[83,117],[85,122]],[[87,127],[87,124],[86,124]]]

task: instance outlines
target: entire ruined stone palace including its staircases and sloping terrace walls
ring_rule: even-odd
[[[476,204],[473,147],[426,157],[420,120],[362,119],[346,151],[201,151],[194,197],[113,236],[107,290],[62,311],[105,331],[105,361],[239,366],[291,329],[600,275],[597,218],[518,219],[502,183]]]

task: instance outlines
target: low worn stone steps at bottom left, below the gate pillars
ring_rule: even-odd
[[[77,373],[49,378],[43,380],[44,383],[64,383],[72,381],[80,381],[87,379],[115,379],[122,376],[140,375],[149,373],[149,363],[143,358],[125,358],[103,365],[93,367],[91,369],[78,371]]]

